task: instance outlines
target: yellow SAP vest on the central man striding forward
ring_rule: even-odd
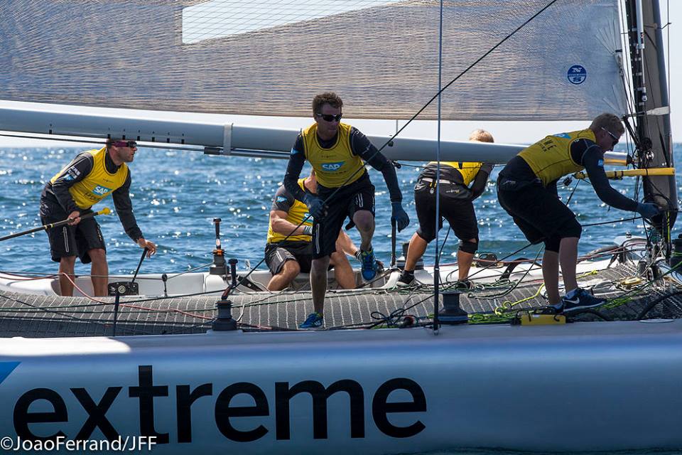
[[[336,144],[330,149],[320,146],[318,124],[313,123],[303,130],[305,159],[315,169],[318,183],[326,188],[349,185],[364,174],[362,159],[354,155],[350,148],[351,128],[348,124],[340,123]]]

